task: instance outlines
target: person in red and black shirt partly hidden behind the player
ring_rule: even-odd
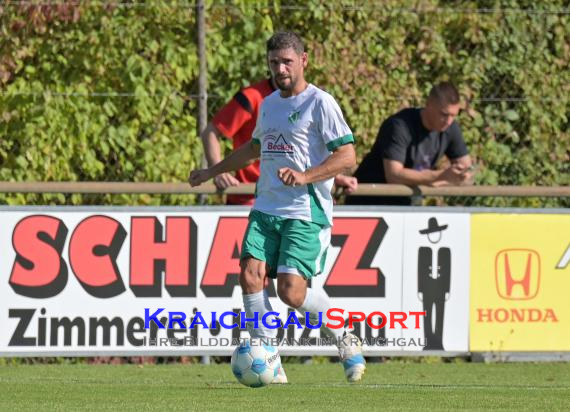
[[[222,136],[232,139],[233,150],[251,139],[261,102],[275,89],[272,79],[254,83],[237,92],[232,100],[216,113],[200,135],[208,167],[222,160],[219,140]],[[214,184],[219,190],[224,190],[230,186],[238,186],[240,183],[255,183],[258,178],[259,160],[238,170],[235,176],[230,173],[216,176]],[[343,187],[345,193],[352,193],[356,190],[358,181],[351,176],[338,175],[335,178],[335,185]],[[228,205],[253,205],[253,199],[252,195],[228,195],[226,203]]]

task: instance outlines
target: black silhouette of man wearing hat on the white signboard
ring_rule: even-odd
[[[428,227],[420,230],[431,244],[437,244],[447,225],[439,225],[435,217],[428,219]],[[437,254],[436,254],[437,251]],[[434,259],[435,258],[435,259]],[[451,251],[448,247],[422,246],[418,251],[418,297],[423,303],[424,350],[444,350],[443,319],[445,301],[449,299],[451,283]],[[435,318],[435,319],[434,319]]]

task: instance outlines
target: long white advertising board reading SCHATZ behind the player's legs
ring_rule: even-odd
[[[248,336],[238,284],[247,211],[36,210],[0,212],[0,355],[229,355]],[[341,209],[312,281],[337,316],[353,312],[366,355],[466,352],[468,284],[468,214]],[[319,330],[289,324],[278,336],[284,355],[337,353]]]

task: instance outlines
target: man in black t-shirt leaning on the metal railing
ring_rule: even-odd
[[[354,176],[359,183],[395,183],[409,186],[472,183],[471,158],[455,121],[460,110],[453,84],[435,85],[425,107],[408,108],[390,116]],[[447,169],[436,170],[446,155]],[[410,205],[409,197],[350,196],[352,205]]]

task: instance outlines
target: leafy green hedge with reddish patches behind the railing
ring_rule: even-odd
[[[199,166],[191,3],[0,4],[0,180],[184,182]],[[383,119],[453,80],[477,184],[570,184],[566,1],[206,2],[208,111],[267,75],[265,41],[295,30],[308,79],[341,105],[359,159]],[[219,201],[213,197],[210,202]],[[187,205],[191,195],[0,194],[7,204]],[[570,200],[431,202],[568,207]]]

